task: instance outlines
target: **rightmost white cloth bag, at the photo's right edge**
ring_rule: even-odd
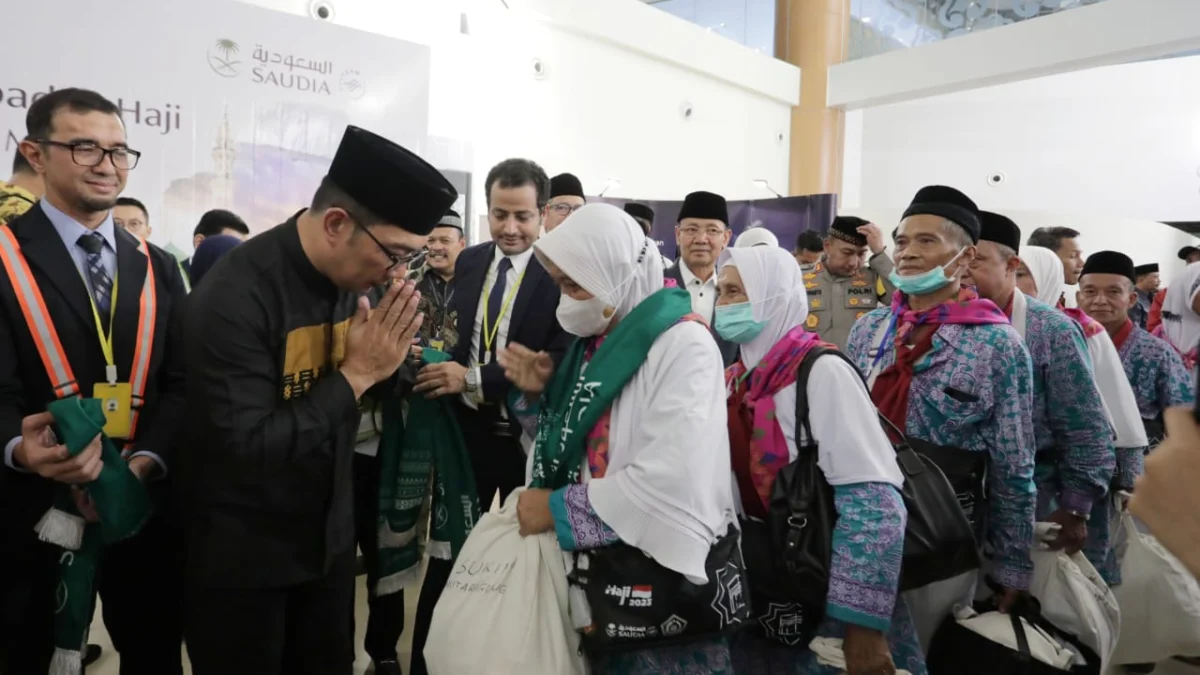
[[[1158,540],[1121,514],[1121,585],[1114,590],[1124,623],[1112,663],[1157,663],[1200,656],[1200,585]],[[1120,550],[1120,549],[1118,549]]]

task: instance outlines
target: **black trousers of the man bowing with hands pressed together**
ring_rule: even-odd
[[[194,675],[350,675],[354,549],[325,577],[284,589],[188,586],[184,610]]]

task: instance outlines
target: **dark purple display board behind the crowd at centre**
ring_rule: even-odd
[[[590,198],[590,202],[605,202],[624,208],[629,202],[646,204],[654,210],[654,227],[650,238],[658,241],[659,250],[668,258],[676,257],[674,227],[679,220],[683,202],[650,202],[643,199]],[[824,234],[836,215],[835,195],[810,195],[808,197],[782,197],[779,199],[755,199],[752,202],[730,202],[730,229],[733,239],[746,229],[764,227],[776,238],[779,245],[792,250],[796,238],[805,229],[815,229]]]

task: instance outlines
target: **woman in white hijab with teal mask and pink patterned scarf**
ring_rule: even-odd
[[[845,639],[845,670],[851,674],[892,674],[896,668],[923,674],[912,621],[896,597],[907,518],[899,492],[904,476],[875,404],[853,365],[836,356],[817,357],[805,389],[812,438],[804,438],[796,420],[797,369],[812,347],[835,347],[804,330],[808,293],[792,256],[779,247],[734,247],[727,255],[714,323],[722,338],[740,344],[726,388],[742,512],[766,519],[775,474],[798,455],[797,437],[800,444],[817,443],[817,465],[834,488],[838,521],[826,617],[816,635]],[[779,614],[760,617],[768,633]],[[808,644],[786,646],[750,634],[734,643],[733,663],[738,675],[842,671],[820,664]]]

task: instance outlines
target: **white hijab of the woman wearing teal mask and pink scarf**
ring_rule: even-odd
[[[767,325],[742,345],[742,363],[752,369],[767,352],[809,316],[804,273],[787,251],[775,246],[730,249],[722,267],[736,267],[742,276],[755,321]],[[817,466],[830,485],[888,483],[904,485],[895,450],[876,422],[863,378],[848,363],[821,357],[809,374],[809,426],[817,441]],[[798,454],[796,437],[796,387],[784,387],[772,396],[775,419],[787,440],[788,458]],[[847,419],[862,420],[848,424]]]

